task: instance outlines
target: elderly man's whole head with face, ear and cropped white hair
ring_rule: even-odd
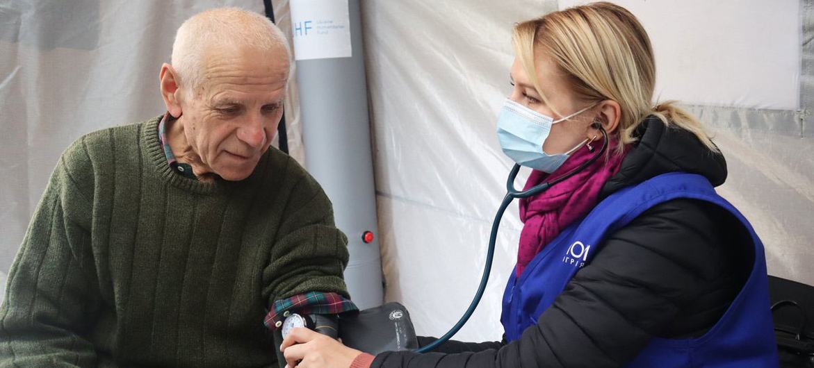
[[[168,141],[199,180],[243,180],[282,117],[291,55],[269,19],[237,8],[204,11],[178,28],[159,73]]]

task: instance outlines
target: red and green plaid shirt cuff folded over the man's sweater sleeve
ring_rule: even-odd
[[[275,301],[274,306],[266,314],[263,324],[271,331],[282,326],[282,320],[292,312],[298,314],[343,314],[355,312],[359,308],[349,299],[345,299],[335,292],[306,292]]]

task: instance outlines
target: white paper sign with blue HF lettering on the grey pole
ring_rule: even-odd
[[[350,58],[348,0],[291,0],[294,58]]]

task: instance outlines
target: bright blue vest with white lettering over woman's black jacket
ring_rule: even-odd
[[[537,323],[540,314],[554,303],[575,273],[591,261],[607,236],[651,207],[676,198],[710,201],[729,210],[752,237],[755,264],[729,310],[706,335],[687,340],[654,338],[627,366],[778,366],[763,244],[743,215],[718,196],[706,178],[685,173],[659,175],[612,194],[546,245],[519,279],[513,272],[501,314],[506,340],[519,339],[527,327]]]

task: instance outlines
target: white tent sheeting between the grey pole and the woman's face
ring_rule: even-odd
[[[510,92],[510,30],[555,6],[362,3],[385,298],[408,307],[419,334],[440,336],[475,293],[511,167],[495,136]],[[457,338],[500,340],[500,298],[520,226],[514,203],[484,299]]]

